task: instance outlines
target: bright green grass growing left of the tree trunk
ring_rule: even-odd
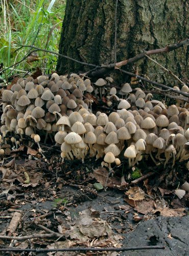
[[[65,1],[60,0],[1,1],[0,62],[4,68],[22,60],[29,52],[30,48],[20,48],[17,44],[58,51],[64,11]],[[55,69],[57,56],[42,51],[37,54],[38,61],[28,63],[25,59],[1,78],[33,72],[36,67],[44,73]]]

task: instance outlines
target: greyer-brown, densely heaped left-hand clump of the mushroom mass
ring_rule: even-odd
[[[71,74],[69,79],[56,73],[51,79],[44,75],[37,79],[20,78],[11,90],[4,90],[2,94],[3,137],[7,132],[14,132],[22,137],[23,134],[31,136],[45,131],[46,141],[49,134],[58,131],[57,114],[69,116],[81,106],[87,110],[91,108],[92,101],[83,100],[85,91],[93,91],[90,80],[84,81],[77,74]],[[53,114],[54,112],[57,114]]]

